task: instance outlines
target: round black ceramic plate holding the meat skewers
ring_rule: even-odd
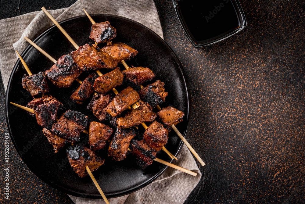
[[[109,21],[117,28],[117,37],[113,40],[114,42],[124,42],[138,50],[139,53],[135,59],[127,61],[129,66],[149,67],[156,74],[156,79],[165,83],[165,89],[169,94],[166,102],[160,106],[171,105],[185,113],[184,121],[178,125],[178,129],[185,136],[190,114],[190,100],[185,75],[174,52],[156,33],[140,23],[113,15],[96,14],[92,17],[96,22]],[[92,42],[88,38],[91,23],[86,16],[71,18],[60,24],[78,45]],[[75,50],[55,26],[42,33],[34,42],[55,59]],[[49,59],[30,45],[24,50],[22,57],[32,73],[48,70],[53,65]],[[123,70],[124,67],[120,66]],[[109,70],[101,71],[106,73]],[[73,171],[67,162],[65,149],[61,149],[57,154],[54,153],[52,145],[43,135],[42,127],[37,124],[36,119],[26,111],[9,104],[9,102],[15,102],[25,106],[32,100],[30,94],[21,85],[22,76],[25,73],[26,71],[18,59],[6,92],[7,124],[17,152],[34,174],[54,188],[79,197],[101,198],[89,176],[80,178]],[[79,78],[83,79],[85,75],[82,74]],[[58,98],[66,108],[88,115],[89,121],[98,121],[86,109],[88,101],[79,105],[70,100],[71,93],[78,86],[76,81],[70,88],[59,89],[50,81],[48,84],[51,89],[50,94]],[[120,90],[122,88],[118,88],[118,91]],[[144,132],[142,127],[139,129],[140,132]],[[81,141],[85,142],[86,135],[83,134],[83,136]],[[177,155],[181,146],[181,140],[174,131],[171,131],[166,148]],[[160,163],[153,162],[149,168],[142,170],[134,163],[131,155],[121,162],[114,162],[106,157],[105,152],[102,151],[100,154],[106,161],[93,172],[93,175],[108,198],[126,195],[143,188],[159,177],[167,168]],[[157,154],[157,157],[170,161],[162,151]]]

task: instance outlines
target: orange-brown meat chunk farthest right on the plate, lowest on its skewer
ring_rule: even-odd
[[[157,115],[162,123],[164,123],[167,127],[170,127],[171,125],[176,125],[177,123],[181,122],[184,113],[171,106],[167,106],[160,110]]]

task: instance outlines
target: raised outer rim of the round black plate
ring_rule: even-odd
[[[156,34],[153,30],[151,30],[150,28],[146,27],[145,25],[143,25],[142,23],[139,23],[135,20],[132,20],[132,19],[128,19],[126,17],[123,17],[123,16],[117,16],[117,15],[113,15],[113,14],[103,14],[103,13],[95,13],[95,14],[90,14],[91,17],[95,17],[95,16],[109,16],[109,17],[115,17],[115,18],[121,18],[121,19],[124,19],[124,20],[127,20],[127,21],[131,21],[132,23],[135,23],[135,24],[138,24],[139,26],[142,26],[144,29],[152,32],[152,34],[154,34],[155,36],[157,36],[157,38],[159,38],[161,41],[164,42],[164,44],[167,46],[167,48],[171,51],[171,53],[173,54],[173,57],[175,57],[178,61],[178,69],[179,71],[182,73],[183,75],[183,82],[184,82],[184,85],[186,87],[186,96],[187,96],[187,104],[188,104],[188,121],[187,121],[187,127],[186,127],[186,130],[185,130],[185,134],[183,134],[183,136],[186,138],[186,136],[188,136],[188,131],[189,131],[189,126],[190,126],[190,117],[191,117],[191,111],[192,111],[192,101],[191,101],[191,96],[190,96],[190,90],[189,90],[189,86],[188,86],[188,80],[187,80],[187,77],[186,77],[186,74],[185,74],[185,71],[183,69],[183,66],[178,58],[178,56],[176,55],[176,53],[172,50],[172,48],[170,48],[170,46],[167,44],[166,41],[164,41],[163,38],[161,38],[158,34]],[[65,19],[63,21],[60,21],[58,22],[59,24],[62,24],[62,23],[66,23],[67,21],[70,21],[70,20],[74,20],[74,19],[78,19],[78,18],[82,18],[82,17],[86,17],[86,15],[80,15],[80,16],[74,16],[74,17],[71,17],[71,18],[68,18],[68,19]],[[89,19],[88,19],[89,21]],[[50,30],[53,30],[55,29],[56,25],[52,25],[51,27],[47,28],[45,31],[43,31],[41,34],[38,35],[38,37],[36,37],[33,42],[36,42],[38,41],[39,39],[41,39],[46,33],[48,33]],[[29,51],[29,49],[32,47],[32,45],[28,45],[24,50],[23,52],[20,54],[21,57],[23,57],[24,55],[26,55],[26,53]],[[7,88],[6,88],[6,93],[5,93],[5,118],[6,118],[6,125],[7,125],[7,128],[8,128],[8,131],[9,131],[9,136],[11,138],[11,141],[13,142],[13,145],[16,149],[16,152],[18,153],[18,155],[20,156],[20,158],[23,160],[23,157],[24,156],[21,156],[20,155],[20,152],[18,152],[17,150],[17,145],[15,143],[15,139],[12,137],[12,133],[11,133],[11,127],[10,127],[10,123],[9,123],[9,120],[8,120],[8,105],[9,105],[9,102],[8,102],[8,95],[9,95],[9,87],[11,85],[11,81],[12,81],[12,78],[13,78],[13,73],[16,72],[17,68],[20,66],[20,59],[18,58],[14,67],[13,67],[13,70],[11,72],[11,75],[9,77],[9,81],[8,81],[8,84],[7,84]],[[179,138],[180,139],[180,138]],[[178,151],[176,152],[176,154],[174,156],[177,157],[177,155],[180,153],[181,149],[182,149],[182,146],[183,146],[183,141],[181,140],[180,143],[179,143],[179,148],[178,148]],[[173,163],[174,159],[171,159],[170,163]],[[41,173],[39,173],[38,171],[36,171],[34,169],[34,166],[30,165],[30,164],[27,164],[23,161],[23,163],[30,169],[30,171],[35,174],[35,176],[37,176],[41,181],[45,182],[46,184],[52,186],[52,188],[55,188],[56,190],[59,190],[63,193],[66,193],[68,195],[73,195],[73,196],[77,196],[77,197],[83,197],[84,198],[84,194],[81,194],[81,193],[77,193],[75,191],[71,191],[71,190],[68,190],[66,188],[63,188],[61,187],[60,185],[58,185],[57,183],[54,183],[52,181],[49,181],[46,179],[46,177],[44,175],[42,175]],[[144,184],[142,184],[141,186],[138,186],[137,188],[133,188],[131,190],[128,190],[128,191],[124,191],[124,193],[119,193],[119,194],[112,194],[112,195],[108,195],[107,198],[116,198],[116,197],[120,197],[120,196],[124,196],[124,195],[128,195],[130,193],[133,193],[135,191],[138,191],[142,188],[144,188],[145,186],[151,184],[153,181],[155,181],[158,177],[160,177],[164,171],[168,168],[168,166],[165,166],[162,170],[159,171],[158,174],[156,174],[154,177],[152,177],[151,179],[149,179],[148,181],[146,181]],[[95,196],[95,195],[85,195],[85,198],[90,198],[90,199],[102,199],[102,196],[101,195],[98,195],[98,196]]]

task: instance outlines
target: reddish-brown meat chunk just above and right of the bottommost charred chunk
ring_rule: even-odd
[[[106,141],[113,133],[113,129],[108,125],[99,122],[90,122],[89,125],[89,144],[93,150],[103,149]]]

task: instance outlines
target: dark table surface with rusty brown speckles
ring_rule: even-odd
[[[1,0],[0,19],[73,2]],[[246,29],[200,49],[188,42],[172,2],[155,3],[164,40],[189,82],[188,141],[207,163],[185,204],[304,203],[305,2],[241,0]],[[2,83],[0,99],[3,138],[8,131]],[[10,200],[2,190],[1,203],[72,203],[35,176],[10,147]],[[4,185],[3,139],[0,148]]]

